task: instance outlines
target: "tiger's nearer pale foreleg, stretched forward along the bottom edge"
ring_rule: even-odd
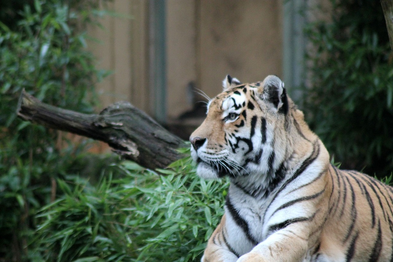
[[[308,249],[308,232],[306,227],[299,225],[276,231],[237,262],[301,262]]]

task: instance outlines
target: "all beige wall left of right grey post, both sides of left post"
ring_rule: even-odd
[[[281,0],[167,0],[167,115],[193,106],[192,81],[210,97],[226,74],[244,82],[281,75]],[[103,106],[128,100],[151,113],[149,104],[149,1],[114,0],[114,11],[133,19],[106,17],[106,28],[89,30],[101,68],[114,74],[99,83]]]

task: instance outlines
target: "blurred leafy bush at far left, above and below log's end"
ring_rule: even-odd
[[[56,196],[83,144],[17,118],[22,89],[52,105],[93,110],[105,76],[86,50],[97,1],[0,1],[0,260],[25,260],[33,214]],[[56,146],[57,143],[57,146]]]

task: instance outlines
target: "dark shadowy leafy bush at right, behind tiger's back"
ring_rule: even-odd
[[[380,2],[331,0],[331,22],[309,25],[307,122],[347,169],[393,170],[393,53]]]

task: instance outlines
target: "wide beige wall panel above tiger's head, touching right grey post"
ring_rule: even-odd
[[[226,74],[242,82],[281,74],[281,1],[201,0],[198,85],[209,96]]]

